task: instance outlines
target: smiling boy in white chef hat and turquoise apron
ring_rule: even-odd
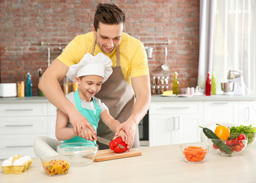
[[[111,66],[111,59],[103,53],[98,53],[97,56],[86,53],[80,62],[70,66],[67,72],[67,77],[73,82],[77,82],[78,89],[76,92],[66,95],[66,98],[87,118],[95,130],[97,130],[98,122],[101,118],[110,130],[116,132],[116,128],[120,125],[120,122],[110,115],[107,106],[99,98],[94,97],[100,91],[102,83],[112,74]],[[85,130],[90,134],[89,140],[96,143],[91,137],[91,130]],[[64,114],[61,110],[57,110],[55,135],[57,140],[64,140],[64,143],[89,141],[85,139],[86,136],[84,136],[84,133],[82,133],[81,137],[74,133],[67,114]],[[117,136],[121,136],[126,143],[127,136],[123,130],[120,130],[120,133],[114,136],[114,139]]]

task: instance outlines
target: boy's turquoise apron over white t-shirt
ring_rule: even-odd
[[[95,110],[90,110],[87,108],[82,108],[80,96],[78,93],[78,90],[74,92],[74,101],[76,102],[77,110],[80,112],[80,114],[83,114],[84,117],[87,118],[87,120],[90,122],[90,124],[94,127],[95,130],[97,130],[98,122],[100,120],[100,107],[97,104],[97,102],[93,99]],[[90,140],[86,140],[84,138],[81,138],[80,136],[74,136],[70,140],[64,140],[63,143],[91,143]],[[96,141],[94,141],[96,143]]]

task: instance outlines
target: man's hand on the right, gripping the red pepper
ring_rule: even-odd
[[[127,144],[127,149],[130,149],[133,146],[136,127],[137,127],[136,121],[132,120],[131,118],[129,118],[128,120],[123,122],[123,124],[120,124],[117,127],[115,136],[118,135],[120,130],[124,130],[127,135],[126,142],[125,142]]]

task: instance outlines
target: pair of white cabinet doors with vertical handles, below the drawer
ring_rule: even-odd
[[[149,146],[199,142],[199,125],[197,115],[150,115]]]

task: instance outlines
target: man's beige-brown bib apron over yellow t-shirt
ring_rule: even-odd
[[[96,40],[94,40],[91,55],[94,55],[95,44]],[[95,97],[100,98],[100,100],[107,105],[111,116],[119,120],[120,123],[126,121],[132,114],[135,97],[133,87],[129,85],[123,77],[120,66],[119,45],[117,46],[117,66],[113,67],[112,75],[103,83],[100,92],[98,92]],[[97,136],[112,140],[114,133],[100,120],[97,128]],[[98,143],[98,145],[99,149],[109,149],[109,146],[102,143]],[[139,147],[138,127],[136,127],[133,147]]]

